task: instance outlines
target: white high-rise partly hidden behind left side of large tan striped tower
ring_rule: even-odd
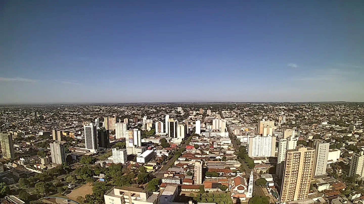
[[[284,174],[287,150],[296,149],[297,141],[298,138],[294,138],[293,136],[290,136],[288,139],[279,140],[277,166],[276,166],[276,175],[278,179],[281,179]]]

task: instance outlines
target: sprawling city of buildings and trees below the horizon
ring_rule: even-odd
[[[363,113],[346,102],[2,106],[1,197],[360,203]]]

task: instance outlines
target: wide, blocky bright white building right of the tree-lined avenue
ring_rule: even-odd
[[[249,157],[274,156],[276,151],[275,136],[252,136],[248,138],[248,155]]]

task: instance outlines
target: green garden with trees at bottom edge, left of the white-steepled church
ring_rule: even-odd
[[[195,192],[181,192],[176,197],[175,201],[187,201],[194,200],[201,203],[217,203],[217,204],[233,204],[230,193],[195,193]]]

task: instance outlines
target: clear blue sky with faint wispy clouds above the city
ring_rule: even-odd
[[[0,103],[364,101],[364,1],[1,1]]]

